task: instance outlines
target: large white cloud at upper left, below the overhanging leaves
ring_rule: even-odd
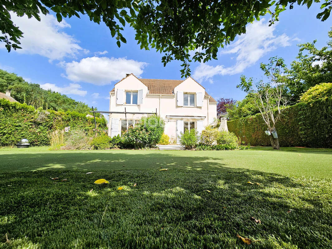
[[[62,31],[70,25],[62,20],[59,23],[53,15],[40,15],[41,21],[35,18],[28,19],[27,15],[18,17],[11,13],[12,21],[24,33],[21,38],[22,49],[19,53],[39,54],[52,60],[61,60],[64,57],[75,57],[80,52],[89,52],[83,49],[72,36]]]

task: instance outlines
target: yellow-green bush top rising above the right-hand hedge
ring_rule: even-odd
[[[300,97],[299,102],[311,103],[316,100],[332,99],[332,83],[321,83],[310,87]]]

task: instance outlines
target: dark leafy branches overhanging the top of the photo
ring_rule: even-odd
[[[164,53],[162,62],[171,60],[183,62],[182,76],[190,75],[189,63],[192,60],[206,62],[217,58],[218,48],[234,40],[236,35],[246,32],[246,25],[271,14],[270,24],[278,21],[280,12],[293,4],[311,6],[313,0],[5,0],[0,5],[0,41],[6,43],[8,51],[21,48],[23,33],[11,20],[11,14],[40,19],[40,14],[56,13],[62,17],[88,15],[95,23],[103,21],[111,31],[111,36],[126,42],[122,35],[125,23],[136,32],[135,40],[141,49],[155,48]],[[319,1],[314,1],[319,2]],[[331,12],[332,1],[321,4],[322,12],[318,19],[325,21]],[[119,25],[121,24],[121,26]],[[190,55],[189,51],[195,54]]]

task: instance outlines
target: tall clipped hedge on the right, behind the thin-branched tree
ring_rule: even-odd
[[[260,114],[227,122],[228,130],[242,141],[270,146]],[[332,100],[299,103],[284,110],[276,124],[280,146],[332,147]]]

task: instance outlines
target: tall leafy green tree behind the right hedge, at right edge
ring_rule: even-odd
[[[332,38],[332,30],[328,32]],[[292,102],[297,102],[300,95],[310,87],[322,82],[332,82],[332,40],[327,46],[317,49],[315,43],[307,42],[299,44],[298,55],[286,70],[288,75],[287,87],[292,96]]]

